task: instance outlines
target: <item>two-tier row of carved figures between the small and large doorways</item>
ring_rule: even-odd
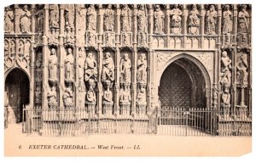
[[[73,104],[73,77],[74,77],[74,59],[72,48],[67,48],[67,57],[64,61],[65,65],[65,84],[67,88],[63,94],[63,100],[65,105]],[[56,56],[55,48],[51,48],[48,70],[49,70],[49,83],[50,90],[48,92],[49,107],[57,104],[57,94],[56,94],[56,82],[58,81],[57,76],[57,64],[58,59]],[[79,59],[78,59],[78,91],[81,93],[82,97],[85,92],[85,86],[87,87],[87,92],[85,96],[86,103],[96,103],[96,82],[98,76],[97,62],[94,57],[94,53],[88,53],[84,61],[83,50],[79,49]],[[112,86],[114,77],[114,61],[111,53],[106,52],[102,61],[102,85],[105,88],[103,92],[103,104],[113,106],[113,94]],[[120,60],[120,95],[119,101],[121,104],[130,105],[131,104],[131,59],[129,59],[129,54],[125,53],[124,57]],[[85,84],[84,84],[85,83]],[[147,85],[147,58],[146,54],[142,53],[137,59],[137,103],[146,104],[146,85]],[[81,98],[83,100],[83,98]]]

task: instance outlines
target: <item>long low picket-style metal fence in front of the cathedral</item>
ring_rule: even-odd
[[[115,112],[115,113],[114,113]],[[151,114],[96,109],[23,110],[23,132],[41,136],[84,136],[96,133],[160,134],[173,136],[252,136],[252,113],[212,108],[154,109]]]

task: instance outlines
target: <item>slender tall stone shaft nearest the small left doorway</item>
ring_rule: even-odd
[[[32,33],[35,33],[35,28],[36,28],[36,5],[32,4]],[[34,89],[35,89],[35,51],[34,51],[34,45],[35,45],[35,35],[33,34],[31,37],[31,62],[30,62],[30,76],[31,76],[31,81],[30,81],[30,105],[34,106]]]

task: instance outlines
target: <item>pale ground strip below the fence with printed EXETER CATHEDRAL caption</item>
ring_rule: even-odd
[[[21,125],[4,130],[5,156],[240,156],[252,148],[251,137],[133,134],[40,137],[21,132]]]

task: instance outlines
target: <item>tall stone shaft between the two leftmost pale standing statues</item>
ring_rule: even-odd
[[[64,20],[64,9],[63,4],[60,4],[60,31],[59,31],[59,50],[58,50],[58,60],[59,60],[59,106],[63,109],[63,92],[65,91],[65,83],[64,83],[64,56],[66,55],[65,47],[64,47],[64,28],[65,28],[65,20]]]

